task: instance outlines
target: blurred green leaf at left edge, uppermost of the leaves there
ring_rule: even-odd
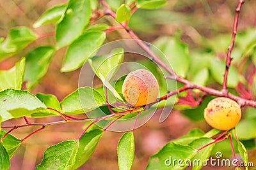
[[[10,29],[6,39],[0,42],[0,60],[18,52],[36,38],[36,34],[27,27],[14,27]]]

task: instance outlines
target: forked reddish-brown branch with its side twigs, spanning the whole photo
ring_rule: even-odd
[[[108,4],[106,3],[106,1],[101,0],[101,3],[103,4],[103,6],[106,8],[106,10],[104,11],[104,15],[111,15],[111,17],[115,18],[116,14],[114,11],[112,11]],[[230,46],[228,47],[228,53],[227,53],[227,67],[225,69],[225,75],[224,75],[224,80],[223,80],[223,89],[222,90],[216,90],[216,89],[212,89],[210,87],[203,87],[200,85],[196,85],[195,83],[192,83],[191,81],[186,80],[185,78],[182,78],[180,76],[178,76],[170,67],[168,67],[161,59],[159,59],[159,57],[157,57],[157,55],[150,49],[150,47],[148,45],[146,45],[145,42],[141,41],[140,38],[138,38],[138,36],[127,26],[127,23],[121,23],[121,26],[125,29],[125,31],[127,31],[130,36],[132,37],[132,39],[134,40],[138,40],[136,41],[136,43],[138,43],[138,45],[143,48],[143,50],[145,50],[145,52],[148,53],[148,55],[150,55],[150,57],[152,57],[151,59],[154,60],[154,62],[156,62],[157,64],[159,64],[159,66],[163,67],[166,71],[168,71],[168,73],[170,74],[170,76],[166,76],[166,78],[170,78],[173,80],[177,80],[180,83],[184,84],[184,87],[181,87],[180,89],[174,90],[172,92],[169,92],[168,94],[166,94],[165,96],[160,97],[156,102],[152,103],[152,104],[148,104],[147,106],[145,106],[144,110],[147,110],[148,108],[150,108],[150,106],[152,106],[155,103],[158,103],[159,101],[163,101],[168,99],[168,97],[179,94],[182,91],[185,90],[189,90],[189,89],[198,89],[201,90],[202,92],[205,92],[205,94],[209,94],[209,95],[213,95],[213,96],[225,96],[225,97],[229,97],[230,99],[233,99],[234,101],[236,101],[237,103],[239,103],[239,106],[253,106],[256,108],[256,101],[252,101],[252,100],[248,100],[248,99],[243,99],[242,97],[238,97],[235,96],[233,94],[229,94],[227,92],[227,75],[228,75],[228,68],[230,67],[230,62],[232,60],[230,54],[232,52],[232,48],[234,47],[234,41],[236,38],[236,31],[237,31],[237,21],[238,21],[238,17],[239,17],[239,11],[241,10],[241,6],[244,3],[243,0],[239,0],[239,4],[237,6],[236,9],[236,17],[235,17],[235,21],[234,21],[234,27],[233,27],[233,33],[232,33],[232,41],[230,43]],[[134,12],[136,10],[136,7],[133,8],[132,12]],[[106,31],[106,32],[110,32],[116,29],[120,29],[120,27],[111,27],[110,30]],[[47,34],[43,34],[41,36],[39,36],[39,38],[43,38],[45,36],[52,36],[54,35],[54,33],[47,33]],[[107,103],[108,104],[108,108],[109,110],[111,110],[110,105],[108,103],[108,98],[107,98]],[[49,123],[45,123],[45,124],[34,124],[28,121],[28,119],[26,117],[24,117],[24,120],[26,121],[26,124],[23,125],[15,125],[15,126],[1,126],[1,128],[11,128],[8,132],[6,132],[6,134],[4,134],[4,136],[1,138],[1,141],[3,141],[3,139],[10,134],[10,132],[12,132],[13,130],[20,128],[20,127],[28,127],[31,125],[40,125],[42,126],[41,128],[37,129],[36,131],[32,132],[31,134],[29,134],[28,136],[26,136],[24,139],[22,139],[22,141],[24,141],[25,139],[29,138],[29,136],[35,134],[38,131],[41,131],[42,129],[44,129],[45,127],[49,126],[49,125],[57,125],[57,124],[65,124],[68,122],[86,122],[86,121],[92,121],[92,123],[90,125],[88,125],[88,127],[86,127],[86,129],[84,129],[84,131],[81,133],[81,135],[79,136],[79,138],[81,138],[81,136],[83,136],[84,132],[87,131],[87,129],[92,126],[93,124],[95,124],[96,122],[99,122],[102,119],[105,118],[109,118],[109,117],[116,117],[119,116],[118,118],[116,118],[115,121],[111,122],[105,129],[104,131],[106,131],[106,129],[108,129],[108,127],[112,124],[114,124],[118,119],[120,119],[121,117],[123,117],[125,114],[129,114],[129,113],[133,113],[133,112],[140,112],[141,108],[132,108],[132,109],[124,109],[124,111],[115,113],[114,111],[111,111],[110,115],[106,115],[103,117],[97,117],[97,118],[73,118],[73,117],[69,117],[63,113],[61,113],[58,110],[54,110],[53,108],[47,108],[49,110],[53,110],[56,111],[57,113],[60,114],[61,117],[64,118],[64,120],[60,120],[60,121],[56,121],[56,122],[49,122]],[[139,114],[138,114],[139,116]],[[138,118],[138,117],[137,117]],[[136,120],[137,120],[136,118]],[[223,132],[223,134],[221,134],[218,138],[216,138],[212,143],[216,143],[218,141],[222,141],[224,139],[227,139],[228,136],[223,136],[226,132]],[[202,150],[203,148],[205,148],[206,146],[211,145],[212,143],[209,143],[208,145],[203,146],[202,148],[199,148],[197,151]]]

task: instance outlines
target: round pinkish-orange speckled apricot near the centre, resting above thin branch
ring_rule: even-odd
[[[136,107],[144,106],[156,101],[159,85],[150,71],[137,69],[126,76],[122,92],[127,103]]]

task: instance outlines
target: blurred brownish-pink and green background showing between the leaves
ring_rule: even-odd
[[[238,1],[238,0],[237,0]],[[161,9],[138,10],[131,18],[129,25],[144,41],[152,42],[159,36],[173,36],[180,32],[181,39],[188,44],[189,50],[205,48],[209,39],[215,39],[213,43],[220,43],[215,51],[216,57],[225,57],[228,46],[221,46],[216,38],[230,35],[236,11],[237,1],[234,0],[172,0]],[[65,3],[61,0],[1,0],[0,1],[0,37],[5,37],[12,27],[25,25],[33,29],[35,20],[45,10],[56,4]],[[109,1],[115,8],[115,1]],[[245,1],[239,17],[238,31],[256,25],[256,1]],[[107,22],[116,25],[115,20],[104,17],[99,22]],[[54,31],[54,25],[44,25],[33,29],[37,34]],[[230,38],[228,36],[228,38]],[[125,31],[114,31],[108,34],[106,42],[115,39],[129,38]],[[230,40],[228,40],[230,41]],[[23,57],[33,47],[44,44],[54,44],[54,38],[48,37],[38,39],[17,55],[9,57],[0,62],[0,69],[10,69],[20,57]],[[61,101],[65,96],[77,89],[80,69],[69,73],[61,73],[61,60],[65,55],[65,48],[61,48],[54,55],[49,70],[40,84],[32,91],[54,94]],[[200,64],[200,63],[198,63]],[[253,68],[252,68],[253,69]],[[1,80],[0,80],[1,81]],[[57,118],[30,118],[31,122],[49,122]],[[159,114],[155,114],[147,124],[134,131],[135,157],[132,169],[145,169],[150,155],[156,153],[165,143],[172,139],[183,136],[195,127],[209,131],[211,127],[204,120],[193,121],[180,113],[180,110],[173,110],[170,116],[159,123]],[[23,124],[24,120],[12,120],[4,124]],[[76,139],[83,131],[84,124],[63,124],[47,127],[44,131],[31,136],[19,147],[11,160],[10,169],[35,169],[36,164],[42,160],[44,151],[51,145],[67,139]],[[17,138],[24,138],[33,127],[17,129],[12,134]],[[118,169],[116,146],[122,133],[104,132],[102,139],[92,157],[79,169]],[[256,152],[249,152],[249,160],[255,163]],[[204,169],[234,169],[233,167],[204,167]]]

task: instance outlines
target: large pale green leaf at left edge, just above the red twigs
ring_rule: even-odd
[[[0,116],[2,121],[30,115],[35,113],[38,108],[45,108],[44,103],[28,91],[7,89],[0,92]],[[15,113],[12,112],[13,110],[15,110]]]

